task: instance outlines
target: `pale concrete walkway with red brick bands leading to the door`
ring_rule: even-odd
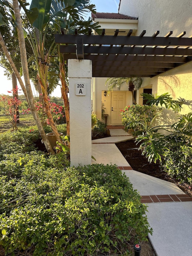
[[[115,127],[114,127],[115,128]],[[149,239],[157,256],[192,255],[192,198],[175,184],[133,170],[114,143],[132,139],[122,129],[110,129],[112,137],[92,141],[92,163],[116,164],[148,206],[153,228]],[[142,255],[142,251],[141,251]]]

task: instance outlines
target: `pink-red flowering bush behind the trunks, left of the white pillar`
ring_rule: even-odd
[[[49,123],[49,119],[46,116],[46,112],[45,112],[45,107],[43,105],[42,102],[37,101],[35,103],[37,111],[38,111],[38,115],[41,119],[41,122],[50,125]],[[52,113],[52,117],[55,123],[59,123],[60,119],[64,118],[64,107],[60,106],[59,104],[56,104],[54,102],[49,102],[49,107],[50,107],[50,111]],[[29,113],[30,109],[28,108],[27,110],[23,110],[23,114],[24,113]]]

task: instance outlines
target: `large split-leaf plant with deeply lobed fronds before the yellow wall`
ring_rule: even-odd
[[[151,109],[147,118],[144,115],[143,121],[135,121],[136,125],[139,124],[143,128],[143,134],[139,135],[136,141],[141,143],[140,149],[143,151],[142,155],[146,155],[149,162],[153,160],[156,163],[157,160],[161,161],[161,156],[164,156],[166,151],[169,151],[168,143],[170,141],[167,136],[159,133],[158,130],[173,131],[173,127],[171,125],[153,126],[153,124],[165,109],[172,109],[177,113],[181,110],[181,107],[179,101],[173,100],[168,93],[164,93],[160,96],[147,93],[141,95],[148,100],[147,103],[149,103]],[[152,117],[153,106],[158,106],[159,104],[161,109],[157,110],[155,116]],[[134,123],[134,120],[132,123]]]

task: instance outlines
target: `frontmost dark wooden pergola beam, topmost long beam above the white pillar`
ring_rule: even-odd
[[[76,44],[77,38],[83,38],[84,44],[111,45],[148,45],[148,46],[187,46],[191,47],[191,38],[175,37],[137,37],[137,36],[103,36],[103,35],[55,35],[57,44]]]

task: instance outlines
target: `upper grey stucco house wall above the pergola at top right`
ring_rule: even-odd
[[[146,30],[146,35],[152,36],[160,30],[160,36],[186,31],[188,37],[192,35],[191,10],[191,0],[121,0],[119,13],[139,17],[136,35]]]

